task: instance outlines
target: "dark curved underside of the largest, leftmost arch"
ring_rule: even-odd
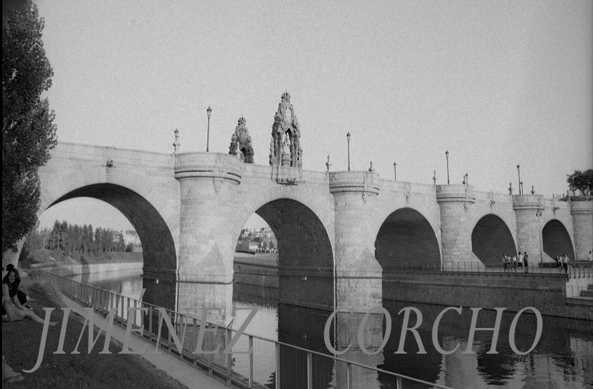
[[[143,196],[116,184],[91,184],[70,191],[55,200],[47,209],[59,202],[79,197],[95,198],[107,202],[130,221],[142,243],[144,275],[147,271],[154,273],[162,270],[175,273],[177,254],[173,236],[159,211]],[[175,308],[175,299],[166,297],[170,294],[163,291],[162,287],[157,291],[158,285],[154,284],[152,280],[144,279],[143,287],[146,288],[143,301],[168,309]],[[175,295],[174,286],[172,286],[172,293]],[[169,299],[164,300],[166,298]]]

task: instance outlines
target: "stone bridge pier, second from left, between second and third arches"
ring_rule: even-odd
[[[375,234],[369,229],[379,193],[370,171],[330,173],[335,207],[336,306],[366,312],[382,304],[382,268],[375,259]]]

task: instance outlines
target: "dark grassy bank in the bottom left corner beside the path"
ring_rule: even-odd
[[[57,300],[51,300],[33,292],[32,282],[23,278],[23,286],[30,291],[35,313],[44,318],[42,308],[56,308],[51,313],[51,320],[57,321],[56,327],[50,327],[47,336],[44,359],[39,369],[33,373],[23,373],[25,379],[14,384],[19,388],[186,388],[181,383],[170,378],[165,372],[158,370],[141,356],[117,354],[121,347],[112,342],[109,351],[112,354],[99,354],[103,349],[105,336],[100,335],[91,354],[88,353],[88,328],[80,340],[78,351],[80,354],[71,354],[75,349],[83,320],[80,316],[71,313],[68,320],[66,337],[64,339],[64,352],[67,354],[53,354],[57,349],[60,338],[64,306]],[[30,370],[37,362],[39,344],[41,343],[43,325],[25,318],[19,322],[2,323],[2,354],[6,356],[8,365],[21,372]],[[95,330],[96,336],[97,330]],[[9,384],[10,385],[10,384]]]

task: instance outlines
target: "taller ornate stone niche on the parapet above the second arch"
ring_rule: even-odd
[[[301,131],[296,120],[290,94],[285,92],[272,125],[272,141],[269,144],[269,166],[290,166],[302,168],[303,148]]]

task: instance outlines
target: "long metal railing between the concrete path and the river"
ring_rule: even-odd
[[[156,343],[156,347],[161,345],[161,349],[165,349],[185,363],[203,370],[206,374],[223,379],[227,386],[262,389],[272,386],[280,389],[285,385],[292,388],[329,388],[331,380],[328,380],[327,374],[342,371],[345,372],[345,377],[336,377],[338,381],[343,382],[342,385],[338,384],[340,388],[357,389],[354,386],[357,377],[368,377],[369,373],[375,372],[377,379],[371,385],[367,385],[365,382],[365,389],[385,387],[450,389],[437,383],[347,361],[331,354],[323,354],[245,333],[241,334],[233,347],[235,351],[232,354],[223,354],[224,347],[229,345],[234,336],[233,333],[237,331],[213,323],[205,323],[207,328],[214,329],[215,332],[207,332],[205,335],[209,336],[204,336],[200,347],[204,352],[213,351],[218,347],[219,352],[216,354],[195,354],[193,351],[197,351],[201,320],[191,315],[165,309],[175,328],[175,336],[178,340],[180,339],[182,344],[181,352],[179,352],[173,334],[168,331],[168,325],[159,328],[163,327],[159,307],[95,286],[82,284],[60,275],[50,274],[55,279],[60,291],[76,302],[92,307],[96,312],[105,316],[110,309],[115,307],[114,322],[124,327],[127,326],[128,320],[127,308],[147,308],[148,313],[136,311],[136,315],[132,317],[132,327],[136,329],[143,327],[143,336]],[[238,351],[247,349],[252,349],[253,352],[238,354]],[[286,368],[287,366],[290,368]],[[258,374],[260,370],[265,373]],[[379,376],[381,377],[380,381]],[[284,381],[288,382],[285,384]]]

